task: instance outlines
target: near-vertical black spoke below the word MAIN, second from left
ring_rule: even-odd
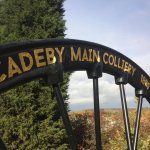
[[[94,93],[94,118],[95,118],[96,149],[102,150],[101,130],[100,130],[98,78],[93,79],[93,93]]]

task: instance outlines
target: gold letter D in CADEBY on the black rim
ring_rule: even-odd
[[[27,58],[29,60],[29,64],[28,65],[25,63],[25,58]],[[20,59],[20,62],[21,62],[22,70],[24,72],[29,71],[32,68],[32,66],[33,66],[33,58],[31,56],[31,54],[29,54],[27,52],[19,53],[19,59]]]

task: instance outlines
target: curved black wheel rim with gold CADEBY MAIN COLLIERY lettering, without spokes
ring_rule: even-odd
[[[43,77],[55,64],[64,71],[89,71],[94,64],[103,72],[120,76],[127,72],[128,82],[144,90],[150,102],[150,76],[132,60],[106,46],[72,39],[44,39],[0,45],[0,91],[16,84]]]

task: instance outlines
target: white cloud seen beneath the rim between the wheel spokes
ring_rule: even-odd
[[[131,102],[134,105],[134,88],[128,84],[125,85],[125,90],[128,103]],[[93,107],[93,82],[87,78],[85,71],[72,74],[69,95],[70,107],[73,110],[84,108],[84,105]],[[119,86],[115,84],[113,76],[103,74],[103,77],[99,79],[99,99],[101,107],[121,107]]]

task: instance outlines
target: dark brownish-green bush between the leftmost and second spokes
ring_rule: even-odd
[[[94,121],[88,112],[70,113],[71,123],[79,149],[96,149]]]

